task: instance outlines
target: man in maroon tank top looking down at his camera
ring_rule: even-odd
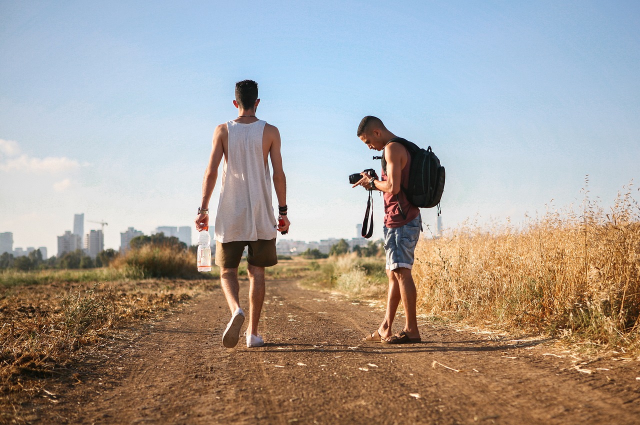
[[[409,178],[411,156],[408,150],[396,141],[399,138],[388,131],[380,118],[365,116],[358,126],[358,137],[369,149],[383,150],[387,170],[382,170],[381,180],[362,173],[362,179],[353,185],[383,193],[385,204],[385,254],[387,256],[387,313],[380,327],[364,341],[383,344],[410,344],[420,342],[420,332],[415,316],[417,298],[411,269],[415,245],[422,230],[420,209],[410,204],[401,187],[406,187]],[[401,332],[394,335],[391,325],[397,307],[402,301],[406,320]]]

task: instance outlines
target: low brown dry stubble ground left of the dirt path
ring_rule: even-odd
[[[0,292],[0,423],[22,423],[20,405],[48,397],[52,379],[111,344],[124,326],[160,317],[212,280],[116,280],[12,285]],[[40,274],[38,273],[38,276]]]

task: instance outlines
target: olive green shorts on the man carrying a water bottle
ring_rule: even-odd
[[[276,239],[257,241],[237,241],[220,243],[216,241],[216,266],[235,269],[240,265],[244,247],[249,246],[246,262],[257,267],[271,267],[278,264]]]

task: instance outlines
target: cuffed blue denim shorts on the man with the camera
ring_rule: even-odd
[[[413,253],[422,230],[420,214],[412,221],[401,227],[386,227],[385,254],[387,254],[387,269],[395,270],[400,267],[413,267]]]

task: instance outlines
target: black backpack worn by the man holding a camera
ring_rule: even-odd
[[[407,200],[419,208],[433,208],[440,204],[442,191],[444,191],[445,172],[444,166],[440,165],[440,159],[431,151],[431,146],[423,149],[399,137],[393,138],[389,143],[392,141],[403,145],[411,156],[408,186],[402,188]],[[387,173],[387,161],[384,155],[382,168]],[[438,215],[440,215],[439,206]]]

